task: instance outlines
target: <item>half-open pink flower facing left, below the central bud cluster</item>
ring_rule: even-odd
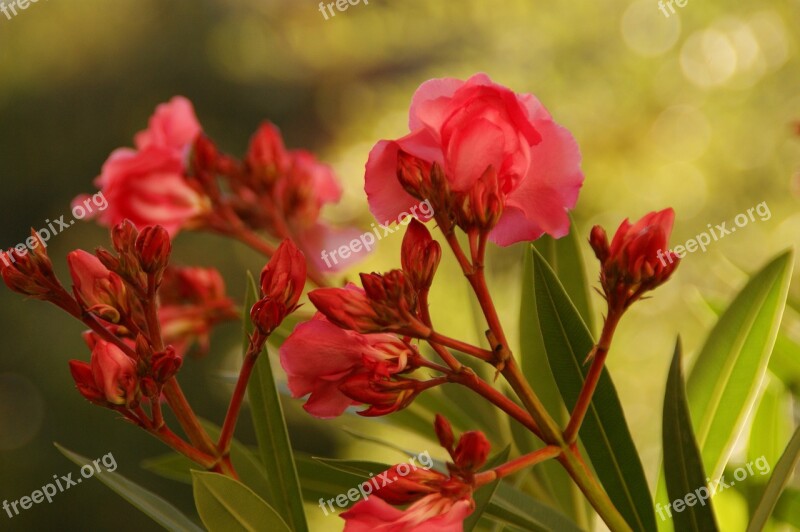
[[[298,325],[280,348],[292,397],[310,394],[303,408],[320,418],[339,416],[359,404],[343,393],[345,383],[362,374],[379,378],[405,371],[415,354],[394,335],[340,329],[319,313]]]

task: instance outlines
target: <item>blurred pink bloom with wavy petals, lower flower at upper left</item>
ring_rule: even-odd
[[[109,227],[129,219],[138,227],[160,225],[174,236],[210,208],[208,198],[186,179],[180,158],[163,147],[114,151],[95,185],[108,207],[93,215]]]

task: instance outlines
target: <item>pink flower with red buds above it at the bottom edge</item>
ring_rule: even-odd
[[[466,432],[455,444],[450,423],[436,416],[436,434],[452,462],[449,475],[433,469],[397,464],[383,473],[394,482],[379,487],[373,498],[360,501],[342,514],[345,530],[369,528],[386,530],[462,529],[464,519],[475,508],[472,493],[474,474],[486,462],[490,445],[482,432]],[[409,505],[405,510],[395,506]]]

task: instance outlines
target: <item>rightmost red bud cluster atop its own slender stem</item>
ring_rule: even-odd
[[[609,314],[619,315],[645,292],[660,286],[680,263],[668,249],[675,212],[664,209],[645,215],[635,224],[620,224],[611,244],[605,230],[592,228],[589,243],[600,261],[600,284]]]

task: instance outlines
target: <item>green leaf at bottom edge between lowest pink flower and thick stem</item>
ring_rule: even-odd
[[[531,498],[507,482],[501,482],[497,486],[497,491],[492,497],[492,502],[486,507],[484,515],[522,530],[581,532],[581,529],[564,514]]]

